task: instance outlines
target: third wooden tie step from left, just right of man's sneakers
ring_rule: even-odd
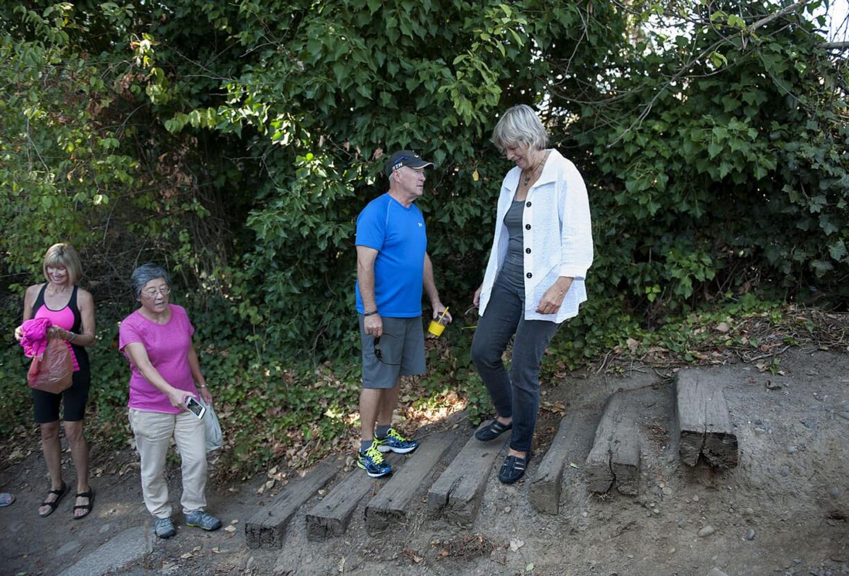
[[[390,480],[366,505],[366,530],[369,534],[381,532],[393,522],[406,519],[410,502],[422,490],[423,484],[432,482],[428,479],[433,477],[434,467],[451,446],[452,440],[444,433],[424,438],[401,471],[392,472]]]

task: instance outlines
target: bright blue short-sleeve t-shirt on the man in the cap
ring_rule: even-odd
[[[378,196],[357,217],[357,246],[378,251],[374,261],[374,301],[380,315],[421,316],[427,234],[419,208],[415,204],[405,208],[389,193]],[[357,312],[365,312],[359,282]]]

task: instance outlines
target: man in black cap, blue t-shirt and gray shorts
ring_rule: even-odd
[[[427,255],[424,217],[413,204],[424,190],[424,168],[432,166],[409,150],[390,155],[385,168],[389,192],[357,217],[357,313],[363,342],[357,466],[370,477],[392,472],[381,453],[407,454],[419,446],[391,423],[400,377],[424,374],[423,287],[433,317],[445,311]],[[450,322],[451,314],[445,313],[445,319]]]

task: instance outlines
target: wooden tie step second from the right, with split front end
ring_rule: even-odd
[[[638,403],[627,392],[615,392],[607,399],[593,449],[587,457],[587,483],[590,492],[604,493],[616,488],[621,494],[639,492]]]

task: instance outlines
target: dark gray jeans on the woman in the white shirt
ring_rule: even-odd
[[[526,320],[524,292],[503,281],[499,274],[475,330],[472,361],[498,415],[513,416],[510,448],[519,452],[531,449],[539,409],[540,362],[558,327],[546,320]],[[501,357],[513,335],[508,375]]]

